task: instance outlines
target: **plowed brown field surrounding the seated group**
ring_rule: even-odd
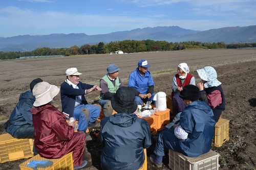
[[[155,91],[171,92],[172,78],[176,74],[177,65],[186,62],[190,73],[200,80],[195,72],[204,66],[213,66],[222,82],[226,98],[226,110],[222,117],[230,120],[229,141],[222,147],[212,147],[221,157],[219,169],[254,169],[256,168],[256,50],[202,50],[174,51],[156,53],[137,53],[121,55],[90,55],[59,58],[36,58],[0,62],[0,134],[6,133],[3,124],[18,102],[19,94],[29,89],[29,83],[41,78],[51,84],[60,86],[65,80],[65,71],[69,67],[77,67],[82,73],[80,81],[98,84],[106,74],[106,67],[115,63],[121,70],[119,77],[127,85],[129,74],[137,67],[140,59],[146,59],[152,66]],[[93,101],[98,92],[86,96]],[[60,95],[55,99],[55,106],[61,110]],[[92,129],[91,129],[92,130]],[[147,149],[147,157],[153,153],[152,146]],[[102,144],[98,139],[87,142],[85,159],[88,165],[84,169],[100,169],[100,153]],[[149,160],[149,159],[148,159]],[[19,169],[18,165],[25,161],[2,163],[0,169]],[[168,169],[168,156],[164,157],[164,166],[157,168],[148,161],[148,169]],[[249,164],[251,167],[249,167]]]

